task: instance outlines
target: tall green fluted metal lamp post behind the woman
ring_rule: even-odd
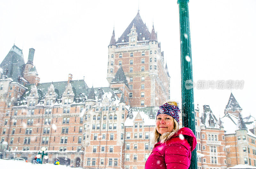
[[[189,0],[178,0],[177,2],[180,10],[182,126],[188,127],[195,133],[195,107],[188,2]],[[189,168],[195,169],[197,168],[196,149],[191,153]]]

